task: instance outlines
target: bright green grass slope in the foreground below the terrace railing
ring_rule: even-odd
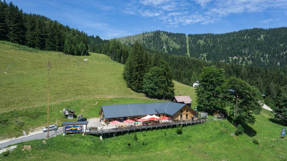
[[[287,157],[287,142],[279,138],[282,125],[272,118],[269,111],[262,111],[256,123],[245,127],[246,133],[238,137],[230,135],[235,128],[228,121],[187,126],[182,134],[177,134],[176,128],[136,132],[137,141],[134,133],[106,135],[103,141],[97,136],[59,135],[46,143],[43,139],[19,143],[1,159],[55,160],[75,155],[85,160],[169,160],[171,156],[182,160],[281,160],[279,156]],[[30,145],[31,150],[22,151],[24,145]]]

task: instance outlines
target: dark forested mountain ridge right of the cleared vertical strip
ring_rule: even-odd
[[[225,34],[189,34],[191,57],[256,66],[287,66],[287,28],[252,28]]]

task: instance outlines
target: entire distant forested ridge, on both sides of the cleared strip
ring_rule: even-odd
[[[187,37],[182,33],[153,31],[117,40],[123,44],[139,41],[148,51],[190,56],[206,61],[287,67],[286,27],[252,28],[224,34],[189,34]]]

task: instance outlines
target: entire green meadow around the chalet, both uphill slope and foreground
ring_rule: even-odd
[[[68,121],[63,108],[76,110],[76,115],[99,117],[100,107],[109,104],[161,102],[126,87],[123,65],[103,54],[91,53],[87,64],[83,57],[61,52],[41,51],[0,41],[0,140],[22,136],[45,126],[47,120],[47,64],[50,71],[49,122],[58,126]],[[10,62],[8,74],[4,74]],[[193,87],[175,83],[175,94],[189,95],[196,106]],[[212,118],[210,116],[210,118]],[[17,144],[0,160],[286,160],[287,139],[280,139],[283,124],[274,114],[262,110],[245,133],[231,136],[235,127],[225,121],[209,121],[176,128],[117,133],[116,137],[67,135]],[[69,120],[75,121],[76,118]],[[253,141],[259,143],[255,144]],[[30,145],[31,150],[22,150]],[[280,158],[281,157],[281,158]]]

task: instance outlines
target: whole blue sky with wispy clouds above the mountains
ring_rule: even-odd
[[[6,0],[10,2],[9,0]],[[143,31],[225,33],[287,26],[287,0],[12,0],[26,13],[44,15],[103,39]]]

